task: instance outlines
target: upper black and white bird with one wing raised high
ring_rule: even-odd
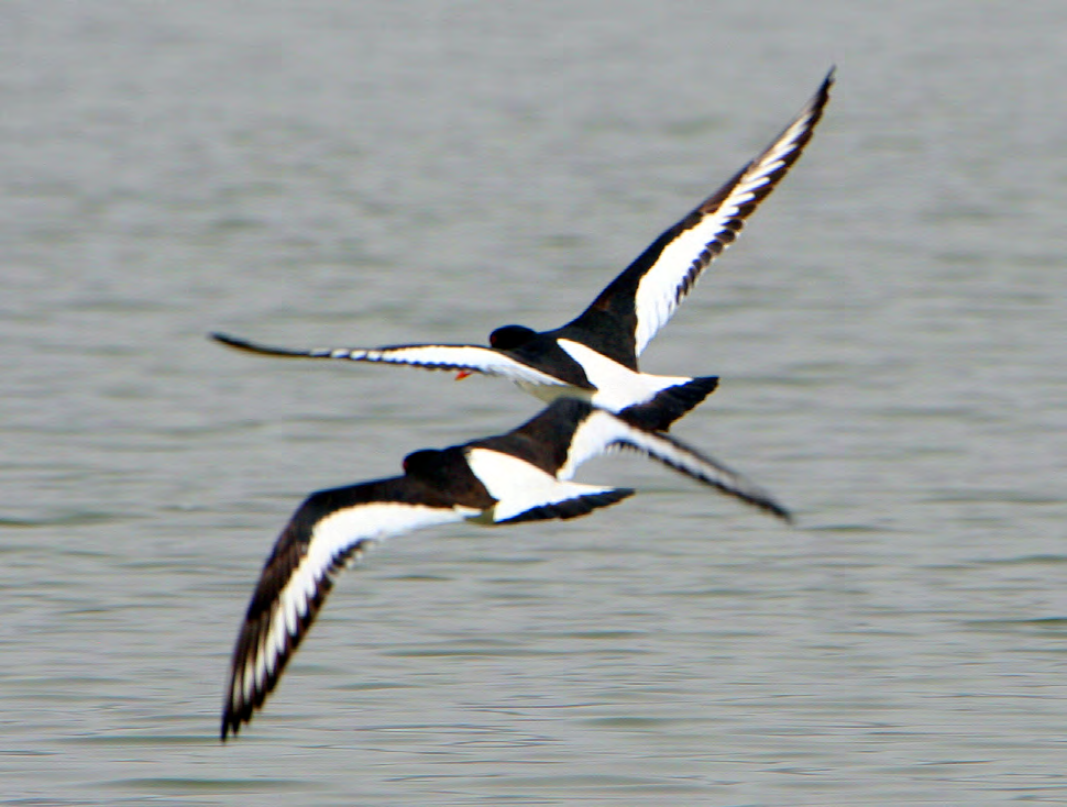
[[[715,379],[641,373],[638,356],[800,157],[823,115],[833,81],[831,70],[800,114],[763,152],[656,239],[585,311],[562,328],[538,332],[504,325],[490,334],[488,346],[289,350],[222,333],[212,336],[232,347],[273,356],[404,364],[458,371],[460,377],[473,373],[504,376],[542,400],[584,398],[644,428],[666,430],[715,388]]]

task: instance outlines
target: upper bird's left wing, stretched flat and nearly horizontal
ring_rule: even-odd
[[[405,364],[425,369],[465,371],[483,375],[503,376],[513,382],[536,385],[565,386],[565,383],[542,373],[527,364],[517,362],[492,347],[458,344],[405,344],[385,347],[314,347],[292,350],[257,344],[224,333],[212,333],[211,338],[230,347],[257,353],[264,356],[287,358],[336,358],[349,362],[378,362]]]

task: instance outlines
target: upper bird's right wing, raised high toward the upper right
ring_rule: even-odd
[[[578,319],[560,331],[603,330],[596,325],[606,316],[628,330],[634,358],[639,356],[701,273],[733,243],[745,220],[800,157],[823,115],[833,82],[831,70],[807,106],[759,156],[653,241]]]

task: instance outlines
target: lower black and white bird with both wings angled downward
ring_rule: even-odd
[[[582,463],[619,447],[790,518],[770,494],[715,460],[576,398],[554,401],[506,434],[417,451],[405,457],[403,476],[312,494],[282,531],[238,635],[222,739],[237,734],[263,705],[337,574],[372,543],[435,524],[570,519],[614,505],[634,490],[571,478]]]

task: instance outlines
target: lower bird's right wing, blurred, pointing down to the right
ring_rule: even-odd
[[[789,510],[745,475],[679,440],[661,432],[635,428],[603,409],[591,409],[575,428],[566,462],[560,467],[558,475],[561,479],[569,479],[582,463],[617,447],[638,451],[728,496],[785,521],[792,520]]]

